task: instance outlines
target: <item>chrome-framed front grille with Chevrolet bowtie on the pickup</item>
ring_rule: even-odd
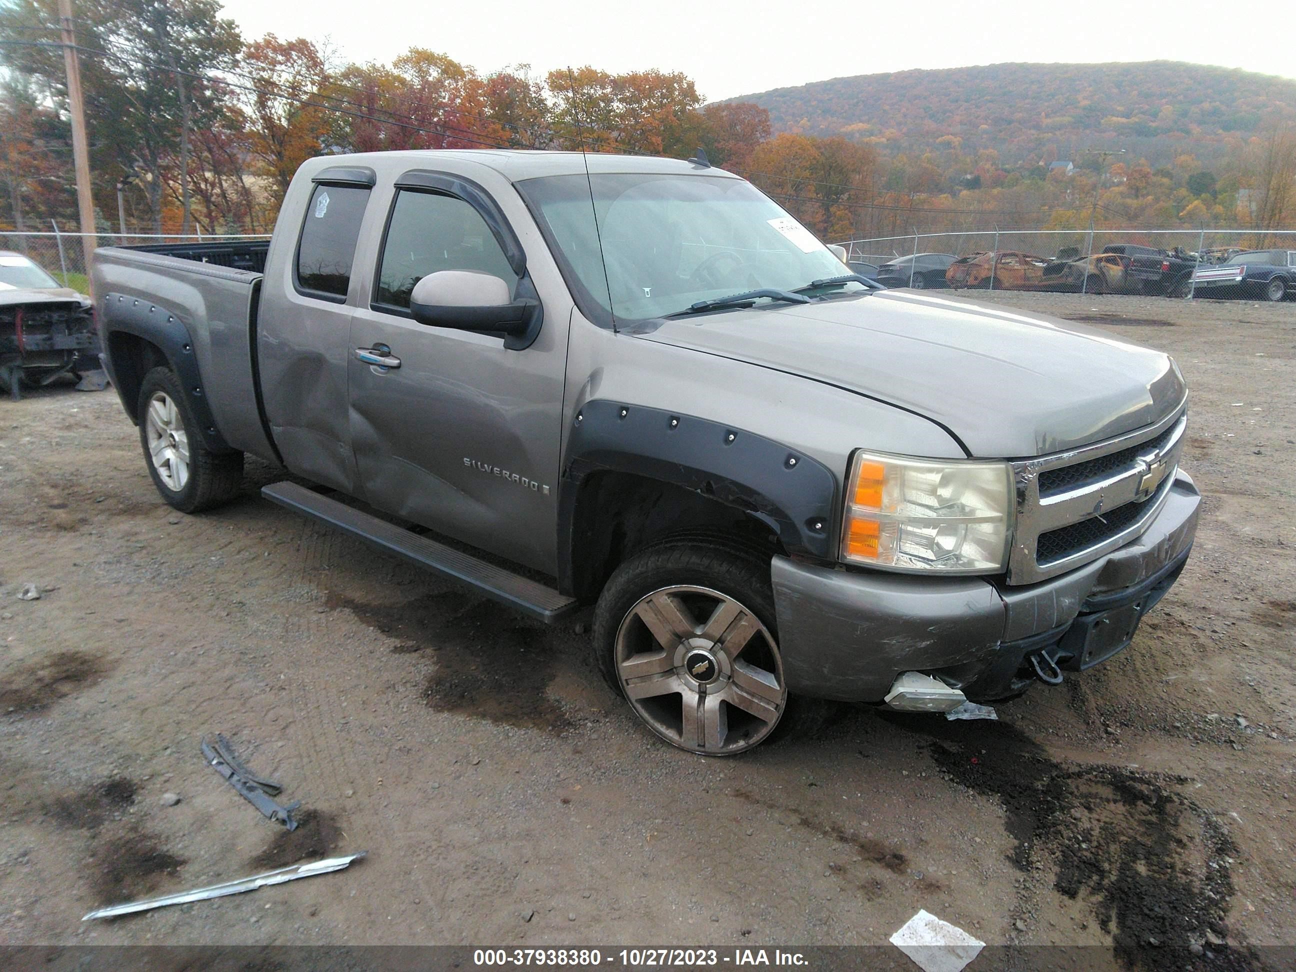
[[[1108,442],[1013,463],[1008,583],[1073,570],[1142,534],[1169,494],[1186,424],[1181,407]]]

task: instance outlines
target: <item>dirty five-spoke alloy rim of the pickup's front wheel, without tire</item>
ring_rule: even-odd
[[[783,715],[788,689],[774,636],[708,587],[664,587],[622,618],[617,679],[649,728],[706,756],[744,753]]]

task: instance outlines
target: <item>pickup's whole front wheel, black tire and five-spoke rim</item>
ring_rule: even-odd
[[[692,753],[739,756],[824,718],[788,696],[769,560],[743,548],[686,538],[634,555],[599,597],[592,648],[639,719]]]

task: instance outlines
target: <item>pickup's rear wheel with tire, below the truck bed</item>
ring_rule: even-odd
[[[172,507],[197,513],[238,492],[242,452],[213,452],[202,443],[180,380],[170,368],[153,368],[144,376],[136,416],[144,463]]]

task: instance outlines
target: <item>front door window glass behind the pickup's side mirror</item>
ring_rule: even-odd
[[[476,270],[517,286],[517,275],[481,214],[455,196],[400,189],[382,242],[375,303],[410,307],[413,285],[439,270]]]

